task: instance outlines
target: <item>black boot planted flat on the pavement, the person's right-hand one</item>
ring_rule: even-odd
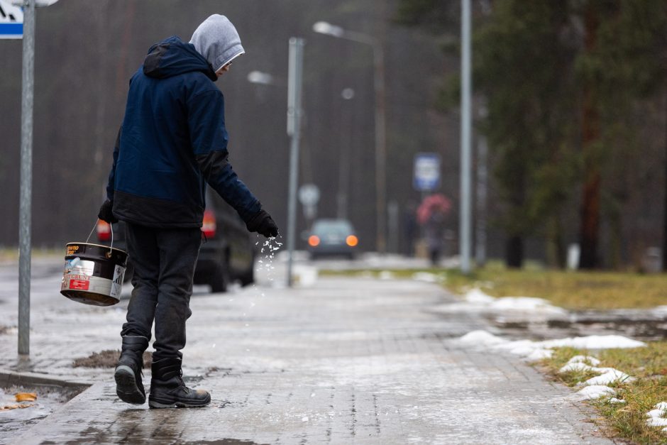
[[[151,408],[194,408],[205,407],[211,402],[211,395],[204,390],[192,390],[183,383],[180,358],[162,358],[151,366],[150,395]]]

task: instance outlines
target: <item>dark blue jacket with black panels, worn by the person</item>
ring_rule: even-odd
[[[172,36],[130,80],[107,197],[123,221],[200,227],[206,182],[248,221],[261,204],[228,163],[224,97],[209,62]]]

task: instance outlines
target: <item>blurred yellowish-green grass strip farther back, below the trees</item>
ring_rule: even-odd
[[[667,274],[643,275],[620,272],[566,272],[536,266],[511,270],[498,263],[463,275],[453,269],[390,270],[397,278],[416,272],[439,275],[451,291],[463,293],[473,287],[493,297],[540,297],[566,309],[651,308],[667,304]],[[326,271],[354,275],[377,270]]]

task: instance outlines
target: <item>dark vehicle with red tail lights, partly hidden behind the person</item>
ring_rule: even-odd
[[[206,210],[194,284],[210,285],[213,292],[225,292],[234,280],[246,286],[255,281],[255,234],[250,234],[236,211],[216,192],[206,190]],[[111,244],[111,228],[98,221],[97,238]],[[114,224],[114,247],[126,251],[125,223]],[[132,258],[128,259],[125,280],[132,276]]]

